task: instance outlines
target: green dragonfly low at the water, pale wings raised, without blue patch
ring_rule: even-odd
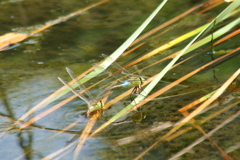
[[[77,82],[76,76],[74,75],[73,71],[70,70],[68,67],[66,67],[66,70],[70,77],[73,79],[74,83],[78,86],[80,91],[84,91],[84,93],[88,96],[88,99],[86,96],[81,94],[80,92],[76,91],[73,87],[68,85],[62,78],[58,77],[58,79],[67,86],[76,96],[78,96],[80,99],[85,101],[88,105],[88,111],[86,113],[86,116],[89,118],[91,114],[95,111],[101,111],[104,108],[104,103],[102,102],[103,99],[107,98],[111,94],[112,87],[115,85],[115,83],[108,86],[103,92],[99,93],[96,98],[92,96],[92,94],[89,92],[89,90],[80,82]]]

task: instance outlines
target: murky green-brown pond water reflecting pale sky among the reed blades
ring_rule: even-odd
[[[0,2],[0,9],[4,15],[1,14],[0,16],[0,35],[9,32],[30,33],[40,25],[71,14],[97,2],[97,0],[2,0]],[[109,1],[85,11],[81,15],[37,33],[19,42],[17,45],[13,45],[8,50],[1,51],[0,128],[2,135],[0,141],[0,159],[41,159],[64,148],[67,144],[75,143],[76,140],[74,141],[73,138],[79,137],[82,129],[88,122],[88,119],[84,116],[84,113],[87,111],[87,105],[80,99],[74,99],[60,109],[40,119],[29,128],[24,130],[12,129],[10,131],[6,131],[6,129],[11,127],[12,124],[29,109],[63,86],[57,77],[70,81],[70,77],[65,70],[66,67],[71,68],[76,75],[79,75],[92,67],[94,63],[103,60],[101,54],[104,53],[109,55],[116,50],[158,5],[158,0],[141,0],[137,2],[134,0]],[[146,28],[145,32],[174,18],[195,5],[196,4],[194,4],[192,0],[184,2],[178,0],[169,1]],[[192,20],[191,18],[195,18],[194,23],[186,24],[186,21],[190,21],[188,19],[183,21],[183,24],[179,24],[179,28],[167,33],[162,39],[157,39],[156,41],[149,40],[147,45],[137,51],[135,55],[129,55],[122,63],[128,63],[132,58],[136,58],[138,55],[144,54],[148,50],[153,50],[156,46],[184,34],[185,29],[190,31],[196,26],[205,24],[205,18],[210,19],[211,17],[215,17],[226,6],[227,4],[222,4],[212,13],[206,13],[205,15],[199,16],[194,15],[197,18],[188,17],[190,20]],[[184,25],[187,25],[187,27]],[[229,41],[229,44],[225,44],[225,46],[223,45],[216,49],[234,49],[234,47],[239,46],[239,42],[237,42],[238,39],[239,35],[233,37]],[[154,63],[156,59],[165,57],[185,45],[186,43],[184,42],[166,52],[165,55],[156,55],[149,61],[140,63],[137,67]],[[154,90],[166,86],[173,80],[185,75],[193,68],[199,67],[208,61],[211,61],[210,56],[204,54],[199,55],[188,63],[188,65],[182,65],[181,69],[178,68],[170,71],[166,75],[165,81],[158,84]],[[154,143],[158,136],[166,133],[165,130],[157,133],[149,133],[150,131],[147,129],[150,127],[157,128],[157,126],[161,125],[171,126],[172,123],[180,120],[183,116],[177,110],[196,98],[209,93],[216,87],[217,82],[215,77],[217,77],[220,83],[224,82],[240,67],[239,61],[240,56],[235,56],[235,58],[217,68],[217,70],[221,72],[216,72],[214,74],[212,69],[201,72],[164,95],[176,95],[175,98],[156,99],[144,105],[142,112],[147,116],[141,122],[133,121],[131,119],[132,117],[128,117],[127,121],[124,121],[126,119],[126,117],[124,117],[121,119],[124,123],[107,127],[93,138],[87,140],[80,152],[79,159],[133,159]],[[159,68],[162,68],[164,65],[166,65],[165,62],[143,71],[142,74],[149,77],[153,76],[158,73]],[[134,71],[134,68],[130,68],[129,71]],[[100,79],[101,76],[96,77],[86,85],[90,86]],[[112,80],[113,79],[109,78],[104,84],[108,84]],[[202,90],[202,88],[204,88],[204,90]],[[97,86],[91,90],[91,93],[96,96],[100,90],[100,86]],[[114,97],[119,95],[123,91],[125,91],[123,88],[114,90],[111,96]],[[177,96],[187,92],[192,92],[192,94]],[[28,119],[44,112],[51,106],[54,106],[70,96],[72,96],[72,93],[60,97],[53,103],[34,112]],[[234,96],[237,97],[239,95],[235,93]],[[104,123],[104,118],[109,119],[114,112],[126,106],[129,101],[129,97],[127,97],[116,103],[114,107],[119,109],[103,113],[103,118],[100,118],[96,126]],[[219,108],[221,108],[221,106],[216,108],[215,111]],[[212,113],[215,111],[212,111]],[[236,107],[232,108],[231,111],[225,113],[225,115],[218,117],[218,120],[213,121],[211,125],[219,124],[219,122],[234,114],[236,111]],[[138,112],[136,113],[138,114]],[[79,122],[76,126],[64,133],[52,137],[77,120]],[[233,121],[225,130],[234,128],[237,123],[239,123],[239,120]],[[206,126],[204,126],[206,132],[212,129],[211,125],[206,124]],[[237,142],[240,138],[239,135],[234,134],[234,132],[239,132],[239,128],[229,133],[219,131],[215,136],[221,136],[222,138],[218,139],[215,137],[214,140],[218,142],[218,145],[224,147],[224,149],[229,148],[236,144],[234,141]],[[139,134],[146,136],[146,138],[140,138],[137,142],[128,142],[126,144],[122,139]],[[180,138],[159,144],[143,159],[168,159],[201,136],[202,134],[199,131],[191,130],[189,134],[183,135]],[[235,138],[233,138],[233,136]],[[116,145],[117,143],[122,144]],[[191,149],[182,159],[206,159],[206,157],[221,159],[217,149],[211,147],[209,141],[205,143]],[[68,152],[64,152],[64,154],[58,158],[72,159],[75,146],[76,144],[72,145],[72,147],[67,150]],[[232,156],[240,157],[236,151],[232,153]]]

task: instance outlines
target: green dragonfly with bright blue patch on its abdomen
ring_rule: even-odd
[[[107,59],[110,58],[105,54],[102,54],[102,56]],[[120,66],[117,62],[113,62],[112,66],[120,71],[122,71],[122,74],[127,75],[129,78],[127,78],[126,80],[122,81],[122,84],[119,85],[115,85],[112,88],[119,88],[119,87],[133,87],[133,90],[130,94],[130,99],[131,101],[133,100],[133,94],[140,94],[140,92],[142,91],[142,85],[145,82],[145,78],[143,78],[143,76],[139,76],[139,75],[134,75],[131,74],[130,72],[128,72],[125,68],[123,68],[122,66]],[[113,73],[110,73],[112,76]],[[117,79],[117,78],[116,78]]]

